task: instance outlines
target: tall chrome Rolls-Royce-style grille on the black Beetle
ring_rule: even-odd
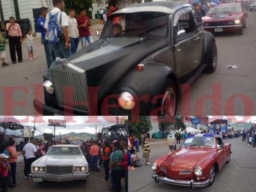
[[[68,63],[52,68],[51,74],[59,106],[87,113],[89,99],[85,71]]]

